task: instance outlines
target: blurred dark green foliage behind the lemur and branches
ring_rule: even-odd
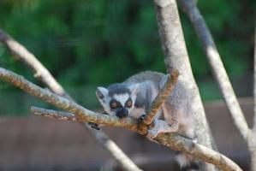
[[[252,94],[256,2],[199,0],[240,96]],[[204,100],[220,98],[217,84],[188,18],[180,10],[193,74]],[[0,1],[0,27],[25,45],[64,88],[87,108],[98,108],[98,85],[121,82],[144,70],[165,72],[152,1]],[[39,84],[0,44],[0,66]],[[244,78],[248,78],[244,80]],[[244,83],[244,84],[243,84]],[[243,85],[242,85],[243,84]],[[31,105],[49,107],[0,80],[0,115],[27,115]]]

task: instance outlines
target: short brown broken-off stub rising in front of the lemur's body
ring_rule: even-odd
[[[158,110],[161,108],[162,104],[165,102],[166,98],[170,96],[170,92],[174,89],[177,83],[179,72],[173,69],[168,77],[168,80],[164,83],[163,88],[159,91],[158,96],[152,102],[152,106],[149,113],[143,120],[146,125],[150,125],[154,120],[155,115],[157,115]]]

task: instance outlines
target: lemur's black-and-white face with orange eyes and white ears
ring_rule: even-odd
[[[114,84],[109,88],[98,87],[96,96],[109,115],[124,118],[134,108],[138,85]]]

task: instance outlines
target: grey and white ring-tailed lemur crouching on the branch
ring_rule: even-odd
[[[112,84],[108,88],[99,86],[96,96],[108,115],[141,119],[149,111],[153,99],[167,79],[168,74],[146,71],[134,74],[128,80]],[[158,133],[179,133],[188,139],[195,139],[190,105],[193,99],[191,91],[184,84],[180,75],[174,90],[158,111],[154,127],[148,130],[147,138],[154,139]],[[160,120],[161,115],[164,115],[164,120]],[[176,160],[182,170],[199,170],[199,162],[194,161],[192,156],[181,153],[176,156]]]

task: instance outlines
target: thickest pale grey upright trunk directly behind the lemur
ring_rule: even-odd
[[[191,112],[196,120],[196,133],[199,142],[212,148],[211,130],[205,118],[205,110],[199,97],[198,87],[193,79],[176,1],[155,1],[155,9],[167,72],[176,68],[180,72],[179,79],[182,77],[182,80],[187,83],[186,88],[193,96],[191,103],[193,111]]]

